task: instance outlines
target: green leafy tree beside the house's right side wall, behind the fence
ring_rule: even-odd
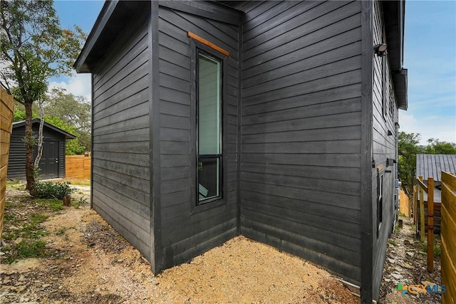
[[[418,145],[420,134],[400,132],[398,142],[399,179],[410,194],[415,184],[416,154],[423,153],[423,147]]]

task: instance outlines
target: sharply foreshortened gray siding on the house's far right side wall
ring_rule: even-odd
[[[383,12],[380,1],[373,2],[373,45],[382,42]],[[388,236],[393,229],[394,221],[394,179],[395,166],[386,166],[386,159],[395,158],[395,122],[398,122],[398,108],[392,91],[391,71],[386,64],[385,98],[386,115],[382,112],[382,60],[373,56],[373,160],[375,167],[382,166],[379,172],[383,174],[383,221],[377,233],[377,169],[372,169],[372,205],[373,205],[373,298],[378,299],[378,292],[385,261],[385,249]],[[390,90],[391,88],[391,90]],[[390,108],[390,107],[393,108]],[[393,135],[388,135],[388,130]],[[391,172],[387,172],[387,171]]]

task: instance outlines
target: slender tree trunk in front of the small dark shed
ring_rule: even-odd
[[[33,172],[33,147],[35,146],[35,139],[33,138],[33,129],[31,125],[32,120],[32,103],[26,102],[24,106],[26,108],[26,125],[24,137],[24,144],[26,145],[26,189],[32,197],[36,196],[36,182],[35,174]]]

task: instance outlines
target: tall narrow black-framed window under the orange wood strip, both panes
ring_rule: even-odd
[[[198,204],[222,197],[222,61],[197,52]]]

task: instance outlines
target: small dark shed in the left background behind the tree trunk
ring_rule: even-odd
[[[32,120],[34,134],[38,134],[40,119]],[[26,146],[24,145],[25,120],[13,122],[11,145],[9,148],[8,178],[26,178]],[[76,136],[60,128],[44,122],[43,125],[43,154],[39,163],[41,179],[56,179],[65,177],[65,144]],[[34,157],[38,153],[34,149]]]

